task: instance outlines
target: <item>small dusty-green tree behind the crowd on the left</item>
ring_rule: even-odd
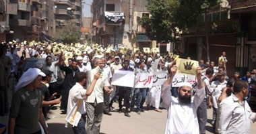
[[[66,25],[57,29],[57,40],[61,40],[64,44],[79,42],[80,32],[77,26],[71,21],[67,21]]]

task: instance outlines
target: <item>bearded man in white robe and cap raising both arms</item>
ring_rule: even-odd
[[[205,97],[205,87],[201,80],[201,68],[197,68],[197,86],[195,96],[191,96],[192,86],[182,83],[178,89],[178,98],[171,95],[172,78],[177,72],[177,66],[172,66],[170,76],[162,85],[162,100],[168,109],[166,134],[172,133],[199,133],[197,108]]]

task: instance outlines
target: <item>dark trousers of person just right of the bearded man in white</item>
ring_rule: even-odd
[[[198,123],[199,123],[199,133],[204,134],[205,133],[205,126],[206,126],[206,123],[207,123],[206,99],[203,99],[203,102],[197,108],[197,119],[198,119]]]

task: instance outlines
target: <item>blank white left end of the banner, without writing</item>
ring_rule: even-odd
[[[113,74],[111,84],[116,86],[127,86],[133,88],[134,78],[134,72],[117,70]]]

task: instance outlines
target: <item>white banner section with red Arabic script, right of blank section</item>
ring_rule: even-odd
[[[153,85],[152,73],[138,73],[135,76],[135,88],[151,88]]]

